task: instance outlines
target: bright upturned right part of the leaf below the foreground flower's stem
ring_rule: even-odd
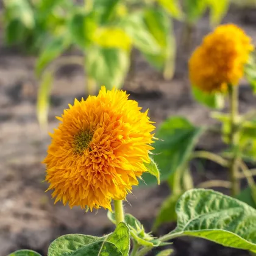
[[[119,249],[123,256],[129,255],[130,230],[124,222],[120,222],[118,224],[115,231],[108,236],[107,241],[115,244],[115,246]]]

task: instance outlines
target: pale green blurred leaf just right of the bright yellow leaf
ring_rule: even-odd
[[[155,40],[144,23],[143,12],[136,12],[127,16],[121,21],[120,26],[130,36],[133,44],[140,51],[148,52],[149,54],[158,54],[161,52],[157,40]]]

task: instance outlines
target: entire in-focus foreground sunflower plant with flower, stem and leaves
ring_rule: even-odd
[[[213,190],[185,192],[176,203],[176,229],[160,237],[124,212],[127,194],[146,172],[159,182],[157,165],[150,156],[155,142],[163,143],[154,137],[148,111],[141,112],[138,103],[128,97],[125,91],[102,87],[98,96],[75,100],[57,117],[59,127],[50,133],[52,141],[43,161],[48,190],[55,202],[70,208],[80,206],[85,212],[107,209],[108,219],[116,227],[104,236],[60,236],[49,245],[48,256],[143,256],[151,251],[171,255],[172,249],[166,246],[180,236],[256,252],[256,210]],[[166,146],[163,143],[164,153]],[[9,256],[40,254],[20,250]]]

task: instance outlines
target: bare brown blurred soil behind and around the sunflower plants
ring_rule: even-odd
[[[256,43],[256,10],[229,12],[224,23],[240,24]],[[175,23],[179,46],[182,26]],[[194,45],[209,30],[207,19],[202,20],[194,32]],[[1,35],[0,35],[0,41]],[[196,125],[214,123],[207,108],[191,98],[187,80],[187,58],[179,47],[176,74],[173,80],[165,81],[137,53],[135,74],[128,76],[124,88],[131,93],[157,125],[171,115],[183,115]],[[34,57],[26,57],[13,49],[0,46],[0,255],[5,256],[16,249],[34,249],[47,255],[52,240],[66,233],[103,235],[113,230],[106,212],[84,213],[80,208],[70,210],[62,204],[54,205],[51,193],[44,193],[48,185],[44,182],[44,166],[50,138],[40,130],[36,119],[38,80],[34,76]],[[57,126],[56,115],[74,98],[85,95],[85,79],[82,69],[66,66],[57,74],[52,91],[49,127]],[[256,105],[251,90],[243,82],[240,87],[240,110],[246,112]],[[201,140],[199,148],[217,150],[221,142],[208,135]],[[209,165],[207,177],[225,178],[218,166]],[[217,169],[216,169],[217,168]],[[195,179],[197,181],[198,178]],[[135,215],[150,229],[152,221],[163,199],[168,195],[165,183],[156,188],[135,188],[127,197],[126,211]],[[141,207],[143,205],[143,207]],[[175,224],[163,226],[158,234],[169,232]],[[249,255],[234,249],[224,248],[199,239],[174,241],[174,256]],[[155,255],[153,252],[152,255]]]

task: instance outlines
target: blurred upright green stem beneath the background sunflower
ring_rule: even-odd
[[[236,130],[236,121],[238,117],[238,87],[229,85],[229,104],[230,104],[230,148],[235,149],[235,154],[230,159],[229,177],[232,183],[231,195],[236,196],[240,192],[240,180],[237,179],[238,162],[236,147],[239,141],[238,132]]]

